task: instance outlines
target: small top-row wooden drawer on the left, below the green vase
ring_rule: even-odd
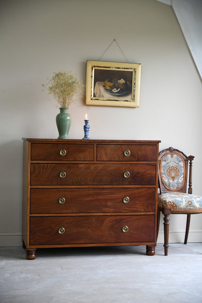
[[[93,161],[93,144],[32,143],[32,161]]]

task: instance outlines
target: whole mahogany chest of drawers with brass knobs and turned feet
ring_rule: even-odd
[[[155,254],[160,141],[23,139],[23,243],[146,245]]]

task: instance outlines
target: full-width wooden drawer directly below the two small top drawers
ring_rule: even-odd
[[[31,185],[155,185],[155,182],[156,164],[31,164]]]

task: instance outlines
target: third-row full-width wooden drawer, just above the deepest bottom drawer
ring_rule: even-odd
[[[155,188],[31,188],[31,214],[154,212]]]

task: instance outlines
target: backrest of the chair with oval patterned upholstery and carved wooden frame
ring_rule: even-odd
[[[159,185],[161,194],[186,192],[188,161],[183,152],[169,148],[159,153]]]

